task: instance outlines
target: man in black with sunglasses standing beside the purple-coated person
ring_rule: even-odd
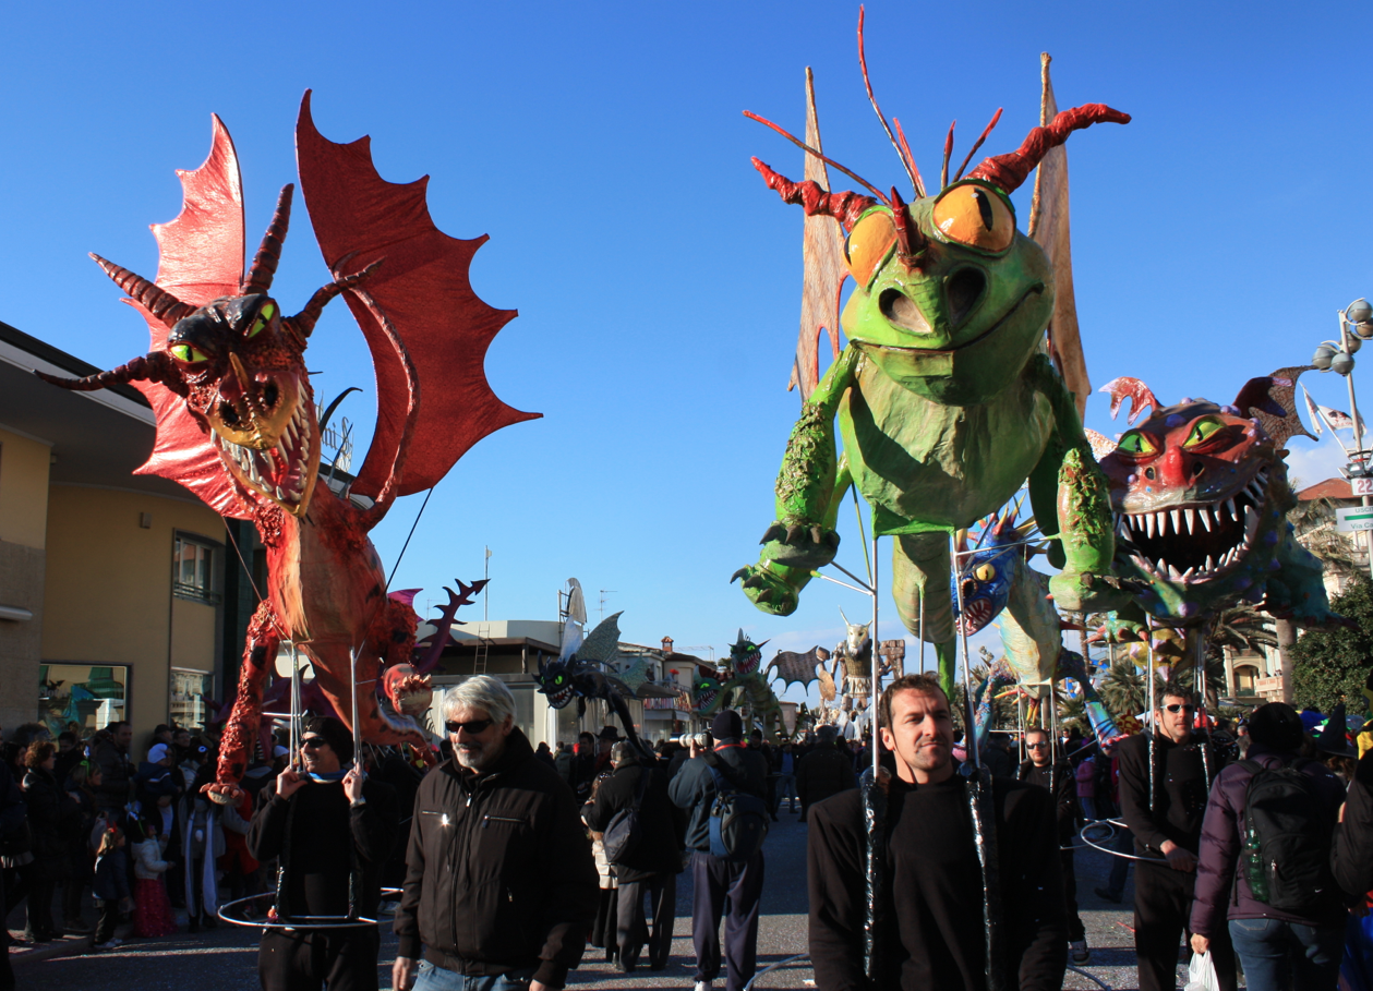
[[[1120,814],[1134,833],[1134,852],[1152,858],[1137,861],[1134,869],[1141,991],[1173,991],[1177,986],[1178,944],[1192,916],[1201,822],[1211,781],[1221,771],[1210,743],[1192,732],[1193,712],[1192,692],[1168,682],[1153,714],[1152,740],[1140,733],[1120,743]],[[1211,962],[1221,991],[1234,991],[1234,948],[1225,928],[1211,940]]]

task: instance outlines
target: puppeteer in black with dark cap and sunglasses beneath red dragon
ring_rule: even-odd
[[[303,770],[287,767],[249,826],[249,852],[281,861],[276,921],[258,948],[264,991],[376,991],[376,920],[382,867],[395,846],[395,792],[367,781],[353,759],[353,736],[338,719],[316,716],[301,737]],[[310,922],[345,924],[310,928]]]

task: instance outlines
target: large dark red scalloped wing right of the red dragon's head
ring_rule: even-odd
[[[428,176],[387,183],[372,165],[371,139],[336,144],[310,117],[310,93],[295,126],[301,192],[335,275],[383,259],[367,291],[395,325],[419,371],[420,409],[400,494],[438,483],[468,447],[501,427],[534,420],[501,402],[486,382],[486,349],[515,310],[497,310],[472,291],[468,266],[486,236],[459,240],[434,226]],[[406,380],[395,350],[364,303],[347,294],[376,368],[376,431],[353,491],[375,497],[405,427]]]

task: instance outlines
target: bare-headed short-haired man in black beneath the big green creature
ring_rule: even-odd
[[[935,675],[894,681],[881,697],[881,738],[897,777],[887,795],[886,946],[879,980],[864,975],[862,799],[846,791],[810,810],[810,957],[825,991],[983,991],[983,874],[969,788],[954,771],[949,699]],[[1057,991],[1067,929],[1053,802],[1041,788],[991,781],[1001,899],[990,906],[1006,988]],[[993,843],[989,841],[989,850]]]

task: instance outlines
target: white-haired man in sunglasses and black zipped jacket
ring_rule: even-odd
[[[453,759],[415,802],[393,987],[562,988],[599,895],[573,791],[534,756],[498,678],[449,689],[443,727]]]

